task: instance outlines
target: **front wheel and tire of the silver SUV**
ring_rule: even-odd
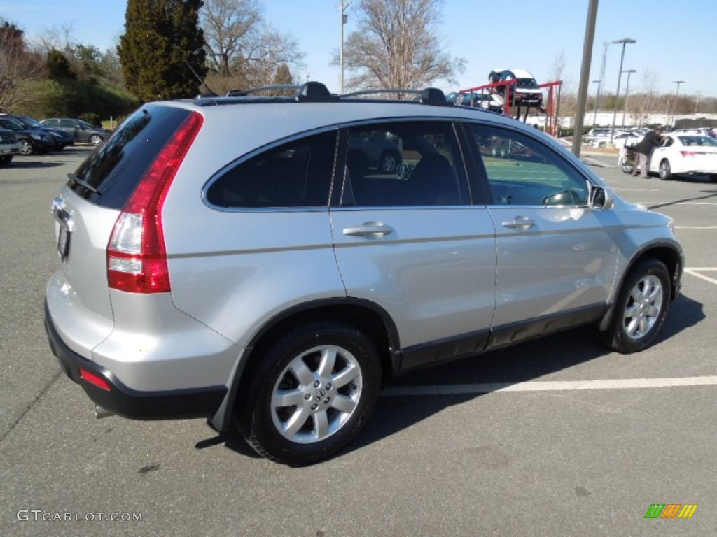
[[[648,259],[632,269],[620,289],[612,321],[601,334],[604,344],[623,354],[650,347],[665,324],[671,292],[670,274],[662,261]]]

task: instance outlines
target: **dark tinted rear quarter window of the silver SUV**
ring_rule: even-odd
[[[227,208],[328,206],[336,132],[324,132],[267,150],[217,178],[206,191]]]

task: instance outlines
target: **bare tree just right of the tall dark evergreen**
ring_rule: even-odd
[[[293,37],[265,21],[257,0],[206,0],[201,21],[215,91],[271,84],[280,65],[303,58]]]

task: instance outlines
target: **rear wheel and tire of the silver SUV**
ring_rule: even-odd
[[[235,415],[257,453],[306,465],[330,457],[361,430],[381,384],[379,355],[364,333],[320,321],[295,326],[259,352]],[[333,367],[322,371],[332,354]]]

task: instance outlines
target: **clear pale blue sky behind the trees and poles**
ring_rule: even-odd
[[[260,0],[261,1],[261,0]],[[346,9],[345,36],[356,31],[353,0]],[[348,3],[348,1],[347,1]],[[340,73],[331,59],[341,46],[340,0],[263,0],[265,17],[290,34],[305,53],[298,69],[338,92]],[[561,55],[564,91],[576,92],[582,61],[589,0],[445,0],[439,42],[452,57],[465,59],[456,83],[437,81],[444,91],[485,84],[494,67],[530,71],[550,82]],[[24,29],[29,39],[47,29],[71,28],[75,42],[104,51],[124,31],[125,0],[0,0],[0,17]],[[589,93],[600,78],[604,44],[635,39],[625,47],[623,70],[630,89],[641,91],[643,77],[655,80],[658,93],[717,97],[717,0],[599,0],[590,69]],[[609,44],[603,92],[617,89],[622,45]],[[348,77],[348,72],[346,73]],[[683,80],[683,84],[673,81]],[[626,75],[622,75],[621,92]],[[652,88],[650,88],[652,89]]]

